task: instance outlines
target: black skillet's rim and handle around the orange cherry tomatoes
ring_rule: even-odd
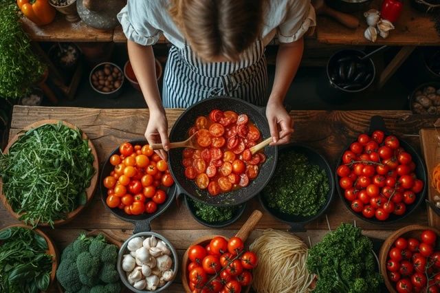
[[[146,140],[130,140],[131,144],[140,144],[143,146],[144,144],[147,144]],[[156,213],[153,214],[142,214],[142,215],[127,215],[124,210],[120,210],[119,208],[109,208],[107,206],[107,203],[105,202],[105,199],[107,199],[107,188],[105,188],[103,182],[104,178],[107,177],[111,171],[113,171],[114,166],[110,164],[110,157],[114,155],[115,153],[118,153],[119,147],[116,148],[114,151],[111,152],[109,155],[109,158],[104,163],[104,166],[102,167],[101,171],[101,177],[100,177],[100,190],[101,190],[101,199],[102,203],[106,208],[108,208],[113,215],[116,217],[123,219],[124,221],[129,221],[135,225],[135,228],[133,230],[133,234],[136,234],[138,232],[148,232],[151,230],[150,222],[158,215],[164,213],[164,210],[170,206],[170,204],[173,202],[173,199],[175,197],[177,188],[176,184],[173,184],[173,186],[170,186],[168,188],[168,191],[166,192],[166,201],[163,204],[157,205]]]

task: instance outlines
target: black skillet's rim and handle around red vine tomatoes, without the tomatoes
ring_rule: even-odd
[[[375,131],[375,130],[382,130],[382,131],[384,131],[385,135],[392,134],[386,129],[384,119],[381,116],[371,117],[370,129],[368,131],[368,134],[371,135],[373,133],[373,131]],[[408,144],[408,142],[406,142],[405,140],[402,140],[397,135],[396,135],[396,137],[399,139],[400,145],[405,149],[405,151],[407,153],[409,153],[411,155],[412,161],[415,162],[415,165],[416,165],[415,175],[417,175],[418,179],[423,181],[423,190],[416,195],[417,199],[415,202],[413,202],[412,204],[406,205],[406,212],[404,213],[404,215],[398,216],[398,215],[390,214],[388,219],[386,219],[385,221],[380,221],[380,220],[376,219],[375,217],[368,219],[368,218],[364,217],[362,215],[362,213],[356,213],[354,210],[351,209],[349,201],[347,201],[347,199],[345,199],[345,197],[344,197],[344,190],[342,190],[342,188],[339,186],[340,177],[338,176],[338,174],[335,175],[336,188],[338,189],[338,193],[342,199],[342,202],[344,202],[345,206],[347,206],[347,209],[351,213],[353,213],[353,215],[355,215],[356,217],[359,217],[360,219],[363,219],[364,221],[368,221],[370,223],[377,224],[377,225],[395,223],[397,221],[400,221],[400,220],[408,217],[408,215],[410,215],[423,202],[423,199],[426,195],[426,185],[427,185],[426,177],[427,176],[426,176],[426,168],[425,168],[425,164],[423,163],[423,160],[421,159],[419,153],[417,153],[417,151],[415,151],[415,149],[410,144]],[[344,152],[350,148],[350,144],[347,145],[347,147],[342,152],[342,155],[340,156],[338,163],[336,164],[336,168],[338,168],[338,166],[340,166],[340,164],[342,164],[342,156],[344,155]]]

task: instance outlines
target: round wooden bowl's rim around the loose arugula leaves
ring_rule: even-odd
[[[23,131],[28,131],[30,129],[34,129],[36,127],[40,127],[43,124],[57,124],[58,122],[62,122],[65,126],[71,128],[71,129],[78,129],[78,127],[76,127],[74,124],[70,124],[69,122],[65,122],[65,121],[61,121],[61,120],[41,120],[38,122],[34,122],[30,125],[28,125],[27,127],[25,127],[23,129]],[[5,150],[3,151],[3,153],[8,153],[10,147],[12,146],[12,144],[14,144],[14,142],[16,142],[21,135],[23,135],[23,133],[17,133],[17,135],[14,135],[14,137],[12,138],[12,140],[10,140],[10,142],[8,143],[8,145],[6,146]],[[98,155],[96,154],[96,149],[94,144],[91,143],[91,140],[89,140],[89,138],[87,137],[87,135],[83,132],[83,139],[87,139],[89,142],[89,148],[91,150],[91,154],[94,156],[94,169],[95,169],[95,174],[93,177],[91,177],[90,180],[90,185],[89,187],[85,190],[85,193],[87,195],[87,202],[85,205],[83,206],[78,206],[78,208],[76,208],[75,210],[72,210],[72,212],[68,213],[66,215],[65,219],[58,219],[56,221],[54,221],[54,226],[61,226],[64,224],[69,223],[69,221],[72,221],[72,219],[74,219],[74,217],[76,217],[81,210],[83,210],[83,208],[85,208],[87,206],[87,204],[89,204],[89,202],[91,202],[91,198],[94,196],[94,193],[96,191],[96,186],[98,183],[98,175],[99,175],[99,163],[98,163]],[[8,203],[8,201],[6,200],[5,195],[3,195],[3,182],[1,180],[0,177],[0,199],[1,202],[3,203],[3,206],[5,206],[6,210],[8,210],[8,212],[12,215],[12,217],[14,217],[15,219],[19,219],[19,217],[21,216],[18,213],[15,213],[14,210],[12,210],[12,207],[10,206],[10,204]],[[41,226],[41,227],[50,227],[50,224],[47,223],[41,223],[38,224],[37,226]]]

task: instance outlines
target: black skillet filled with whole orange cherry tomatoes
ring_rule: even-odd
[[[123,142],[111,152],[101,171],[100,189],[104,206],[135,224],[134,233],[151,230],[151,220],[170,206],[176,193],[168,163],[146,140]]]

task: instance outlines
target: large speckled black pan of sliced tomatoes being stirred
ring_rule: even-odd
[[[278,149],[250,149],[270,129],[263,108],[239,98],[201,100],[177,118],[170,141],[196,135],[197,149],[171,149],[168,166],[178,193],[210,206],[236,206],[257,195],[272,177]]]

